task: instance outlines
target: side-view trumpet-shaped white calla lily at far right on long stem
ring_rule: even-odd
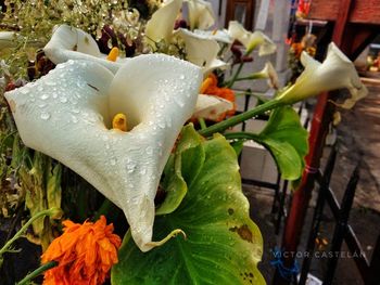
[[[367,95],[368,90],[360,81],[353,63],[331,42],[324,63],[319,63],[306,52],[301,55],[305,70],[295,83],[279,94],[277,100],[287,104],[317,95],[322,91],[346,88],[351,99],[341,106],[351,108],[355,102]]]

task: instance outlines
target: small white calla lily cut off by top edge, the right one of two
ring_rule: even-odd
[[[207,29],[215,24],[215,15],[211,2],[204,0],[186,0],[189,10],[190,29]]]

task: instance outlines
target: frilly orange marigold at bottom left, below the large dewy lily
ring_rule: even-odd
[[[58,267],[45,273],[45,285],[97,285],[104,283],[111,267],[117,263],[122,238],[113,234],[113,224],[104,216],[92,223],[63,222],[64,233],[42,255],[42,263],[55,260]]]

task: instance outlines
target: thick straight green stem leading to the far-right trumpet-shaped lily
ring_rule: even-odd
[[[233,126],[236,126],[244,120],[251,119],[252,117],[261,115],[269,109],[279,107],[281,105],[283,105],[282,102],[280,102],[278,100],[271,100],[271,101],[265,102],[262,105],[254,107],[253,109],[246,111],[240,115],[237,115],[237,116],[233,116],[229,119],[217,122],[217,124],[210,126],[208,128],[206,128],[204,130],[200,130],[198,132],[201,135],[210,137],[215,132],[221,132],[221,131],[224,131],[230,127],[233,127]]]

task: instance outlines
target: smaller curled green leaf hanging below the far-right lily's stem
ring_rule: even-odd
[[[305,167],[307,138],[308,132],[301,125],[296,112],[286,106],[276,108],[265,129],[253,139],[269,150],[283,179],[296,180]]]

